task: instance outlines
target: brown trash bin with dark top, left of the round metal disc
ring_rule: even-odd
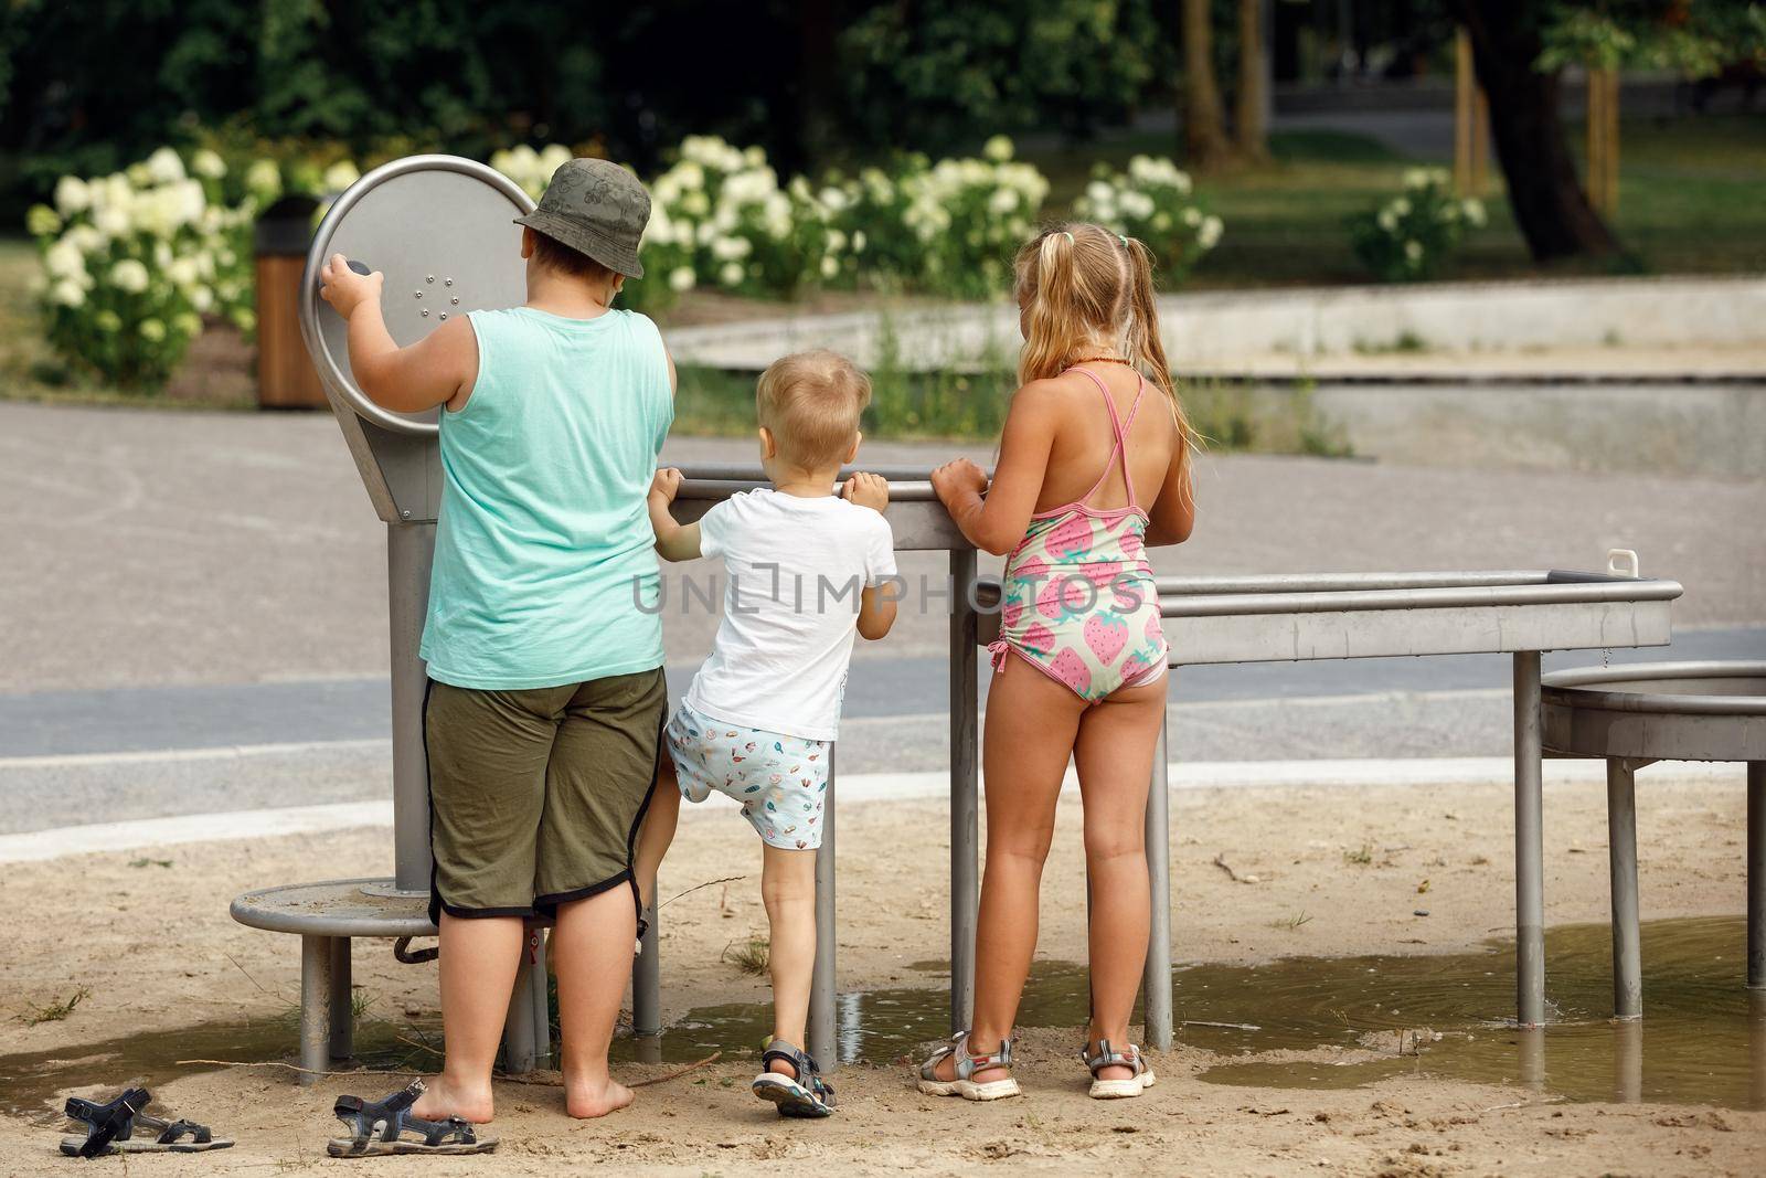
[[[311,196],[284,196],[258,217],[258,408],[323,408],[325,387],[300,339],[300,272],[313,242]]]

